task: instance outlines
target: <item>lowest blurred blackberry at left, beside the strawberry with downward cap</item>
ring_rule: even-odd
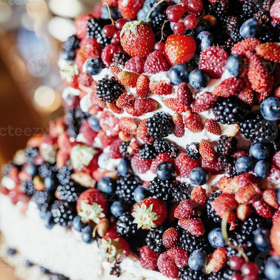
[[[67,201],[56,200],[51,207],[51,213],[55,223],[68,227],[77,215],[76,205]]]

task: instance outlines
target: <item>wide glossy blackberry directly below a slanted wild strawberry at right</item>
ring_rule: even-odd
[[[245,116],[245,106],[236,96],[231,95],[227,98],[219,98],[213,107],[215,120],[223,124],[237,123]]]

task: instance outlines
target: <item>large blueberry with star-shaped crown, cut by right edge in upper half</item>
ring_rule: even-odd
[[[277,121],[280,119],[280,100],[276,97],[265,99],[261,105],[261,114],[268,121]]]

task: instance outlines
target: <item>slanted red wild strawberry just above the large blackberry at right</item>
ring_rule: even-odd
[[[221,97],[229,97],[231,95],[237,95],[243,89],[243,81],[241,78],[231,77],[225,79],[215,87],[212,91],[213,95]]]

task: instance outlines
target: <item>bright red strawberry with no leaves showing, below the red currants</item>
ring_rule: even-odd
[[[186,63],[195,54],[196,43],[191,36],[172,34],[165,41],[164,51],[170,65]]]

